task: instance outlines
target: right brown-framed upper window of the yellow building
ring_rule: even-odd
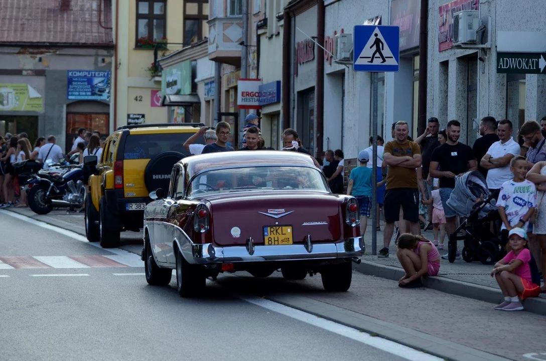
[[[184,44],[193,44],[209,36],[209,1],[186,0],[184,2]]]

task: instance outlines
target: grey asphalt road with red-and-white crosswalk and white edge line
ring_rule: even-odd
[[[372,347],[369,335],[278,313],[221,283],[182,299],[174,278],[148,286],[138,256],[51,226],[0,213],[0,230],[2,359],[434,359],[386,340]]]

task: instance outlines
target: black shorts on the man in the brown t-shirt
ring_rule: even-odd
[[[385,222],[394,223],[400,219],[402,207],[403,219],[411,223],[419,221],[419,191],[416,188],[393,188],[385,192],[383,212]]]

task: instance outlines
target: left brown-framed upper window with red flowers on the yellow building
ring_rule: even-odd
[[[158,40],[167,39],[167,1],[136,2],[135,46],[152,48]]]

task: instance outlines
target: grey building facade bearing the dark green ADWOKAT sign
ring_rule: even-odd
[[[546,76],[537,74],[537,52],[546,50],[546,20],[538,9],[545,6],[544,0],[515,7],[508,0],[429,2],[429,34],[438,36],[429,36],[428,43],[428,115],[443,124],[458,119],[461,141],[469,145],[484,116],[509,119],[514,129],[546,116]],[[484,47],[453,47],[453,13],[460,10],[478,11],[479,25],[486,27]],[[526,58],[535,58],[536,67],[518,65]]]

